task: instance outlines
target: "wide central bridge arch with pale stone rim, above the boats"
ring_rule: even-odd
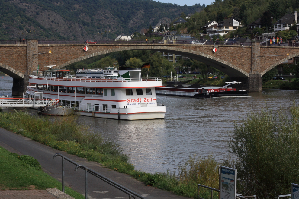
[[[119,51],[124,51],[124,50],[153,50],[153,51],[175,53],[178,55],[182,55],[185,57],[189,57],[189,58],[198,60],[198,61],[203,62],[208,65],[211,65],[214,68],[216,68],[220,71],[223,71],[230,77],[248,77],[249,76],[249,74],[246,71],[236,67],[235,65],[233,65],[227,61],[224,61],[222,59],[219,59],[217,57],[207,55],[202,52],[189,50],[189,49],[183,49],[183,48],[177,48],[177,47],[171,47],[171,46],[154,46],[154,45],[153,46],[129,46],[129,47],[119,47],[119,48],[114,48],[114,49],[109,49],[109,50],[103,50],[103,51],[95,52],[95,53],[92,53],[89,55],[85,55],[85,56],[70,60],[61,65],[56,66],[56,68],[57,69],[63,68],[69,64],[79,62],[79,61],[82,61],[84,59],[91,58],[94,56],[103,55],[103,54],[107,54],[107,53],[111,53],[111,52],[119,52]]]

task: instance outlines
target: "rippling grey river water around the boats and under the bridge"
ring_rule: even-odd
[[[11,96],[12,78],[0,76],[0,95]],[[119,141],[136,169],[146,172],[174,171],[188,156],[213,154],[223,160],[227,152],[228,131],[233,122],[259,112],[267,106],[277,111],[299,103],[299,91],[264,89],[248,97],[192,99],[157,96],[166,106],[164,120],[119,121],[79,116],[93,132]]]

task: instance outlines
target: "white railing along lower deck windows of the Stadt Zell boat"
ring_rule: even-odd
[[[74,107],[74,103],[72,103],[71,106]],[[76,104],[74,110],[84,111],[84,112],[111,113],[112,109],[119,109],[119,108],[120,106]]]

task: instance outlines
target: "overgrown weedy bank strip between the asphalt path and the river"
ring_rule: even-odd
[[[117,142],[104,140],[101,134],[89,133],[86,126],[78,125],[75,122],[77,116],[60,117],[59,120],[56,119],[54,122],[51,122],[48,118],[31,116],[29,113],[21,111],[11,113],[1,112],[0,127],[31,138],[54,149],[86,158],[88,161],[101,163],[105,167],[117,172],[129,174],[133,178],[145,182],[148,186],[172,191],[175,194],[185,197],[197,196],[196,184],[198,180],[202,179],[184,179],[182,181],[182,178],[174,173],[156,172],[155,174],[151,174],[135,170],[134,165],[129,163],[128,156],[122,152],[122,148]],[[202,162],[203,160],[205,159],[198,161]],[[214,159],[211,157],[208,161],[213,162]],[[205,174],[205,172],[208,172],[207,169],[209,167],[201,167],[200,170],[203,176],[207,176]],[[181,171],[187,173],[188,169],[184,168]],[[216,187],[216,185],[211,183],[209,184],[204,181],[202,183],[205,183],[207,186]],[[201,197],[208,196],[209,191],[201,190],[200,195]]]

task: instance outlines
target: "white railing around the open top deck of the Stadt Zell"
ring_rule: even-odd
[[[40,78],[41,76],[31,75],[31,78]],[[70,77],[70,76],[69,76]],[[140,81],[162,81],[159,77],[150,78],[125,78],[125,79],[111,79],[111,78],[91,78],[91,77],[72,77],[72,78],[53,78],[42,77],[49,81],[74,81],[74,82],[140,82]]]

